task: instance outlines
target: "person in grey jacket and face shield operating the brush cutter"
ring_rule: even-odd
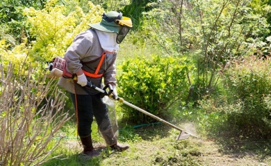
[[[115,60],[119,44],[129,33],[132,21],[128,17],[123,17],[122,12],[110,11],[102,15],[101,22],[89,26],[88,30],[74,38],[74,42],[64,55],[67,71],[76,75],[77,80],[61,77],[58,84],[69,91],[74,103],[83,154],[99,156],[99,151],[92,146],[93,117],[108,146],[124,151],[129,145],[117,142],[117,136],[108,117],[107,105],[102,101],[99,91],[88,89],[86,85],[87,82],[91,82],[101,88],[103,83],[110,84],[113,87],[113,97],[117,99]]]

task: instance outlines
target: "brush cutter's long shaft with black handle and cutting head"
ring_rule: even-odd
[[[112,94],[113,88],[112,88],[112,86],[110,84],[108,86],[105,86],[104,89],[99,89],[94,84],[91,84],[91,82],[88,82],[87,86],[90,87],[90,88],[92,88],[92,89],[95,89],[95,90],[101,92],[102,95],[108,95],[108,97],[115,99],[114,95]],[[106,91],[106,89],[109,89],[109,90]],[[190,135],[194,136],[195,138],[198,138],[197,136],[193,135],[192,133],[188,133],[188,131],[184,131],[183,129],[181,129],[179,127],[176,127],[174,124],[171,124],[170,122],[167,122],[167,121],[159,118],[158,116],[154,116],[153,114],[151,114],[151,113],[149,113],[149,112],[147,112],[147,111],[145,111],[143,109],[140,109],[139,107],[136,107],[135,105],[133,105],[133,104],[131,104],[129,102],[126,102],[122,98],[117,97],[116,100],[118,102],[124,103],[124,104],[128,105],[129,107],[132,107],[133,109],[136,109],[136,110],[138,110],[138,111],[146,114],[147,116],[150,116],[151,118],[159,120],[160,122],[163,122],[163,123],[169,125],[170,127],[173,127],[174,129],[177,129],[177,130],[181,131],[181,133],[179,134],[179,136],[177,136],[176,140],[185,140],[185,139],[188,139]]]

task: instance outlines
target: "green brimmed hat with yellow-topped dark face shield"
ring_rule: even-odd
[[[129,17],[122,16],[122,12],[110,11],[102,15],[101,22],[88,24],[91,28],[101,30],[106,33],[117,33],[117,43],[120,44],[124,37],[133,27]]]

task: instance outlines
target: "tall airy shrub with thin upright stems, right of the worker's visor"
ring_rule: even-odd
[[[261,5],[263,4],[263,5]],[[190,54],[198,100],[216,93],[217,72],[227,60],[247,55],[268,35],[270,6],[260,1],[159,1],[143,13],[142,29],[168,55]],[[163,51],[162,50],[162,51]],[[192,73],[192,72],[191,72]],[[195,94],[195,93],[194,93]]]

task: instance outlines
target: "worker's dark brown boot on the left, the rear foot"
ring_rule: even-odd
[[[80,139],[81,139],[81,142],[82,142],[82,145],[83,145],[82,154],[85,154],[85,155],[90,156],[90,157],[99,156],[99,151],[97,151],[96,149],[93,148],[91,135],[87,136],[87,137],[84,137],[84,138],[80,137]]]

